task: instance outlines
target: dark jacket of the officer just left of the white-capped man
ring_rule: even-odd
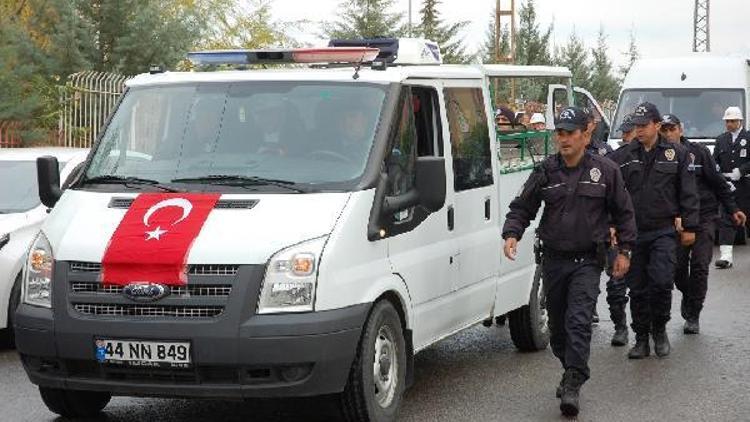
[[[719,217],[719,205],[729,214],[739,210],[732,193],[732,185],[716,169],[716,162],[711,151],[697,142],[683,137],[680,140],[690,154],[690,163],[695,173],[695,183],[700,197],[701,222],[715,220]]]

